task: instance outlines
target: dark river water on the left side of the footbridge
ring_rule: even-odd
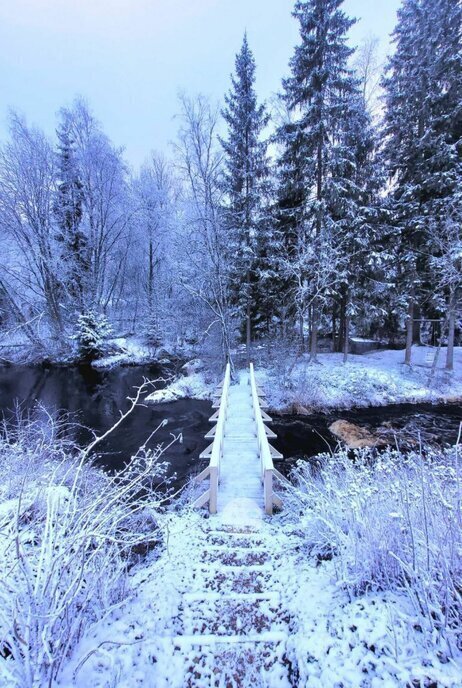
[[[165,377],[165,370],[153,365],[107,371],[89,366],[0,368],[0,409],[8,417],[16,403],[25,410],[32,410],[39,402],[52,412],[69,412],[73,421],[85,426],[76,426],[72,431],[75,440],[85,444],[93,438],[91,431],[101,435],[114,424],[120,411],[129,406],[127,397],[134,396],[145,378],[159,380],[162,377]],[[164,385],[165,382],[158,381],[155,388]],[[177,475],[176,484],[182,484],[199,467],[197,457],[207,446],[204,435],[210,428],[210,415],[210,402],[192,399],[139,406],[98,446],[100,461],[110,468],[121,468],[152,431],[167,419],[167,425],[158,430],[148,447],[159,443],[166,445],[171,442],[172,435],[182,435],[182,442],[175,442],[163,457],[171,464],[170,474]]]

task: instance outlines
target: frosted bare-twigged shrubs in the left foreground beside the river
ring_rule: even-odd
[[[138,553],[159,540],[160,450],[109,475],[70,449],[51,419],[0,439],[2,687],[52,685],[86,627],[123,599]]]

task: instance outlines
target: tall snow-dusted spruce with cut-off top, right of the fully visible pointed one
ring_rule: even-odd
[[[339,156],[344,123],[355,91],[348,68],[352,50],[346,44],[354,20],[340,9],[342,3],[343,0],[297,0],[293,14],[300,23],[301,42],[290,61],[291,75],[283,82],[284,98],[294,121],[283,128],[280,138],[286,140],[289,159],[301,161],[301,183],[297,184],[296,194],[301,207],[296,215],[290,209],[298,224],[299,268],[295,281],[302,316],[309,303],[310,353],[314,360],[323,299],[336,280],[336,206],[338,193],[347,180]]]

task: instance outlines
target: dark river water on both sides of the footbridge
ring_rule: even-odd
[[[90,367],[5,367],[0,368],[0,411],[7,417],[17,403],[28,412],[40,403],[53,412],[65,411],[82,426],[72,430],[74,439],[85,444],[104,433],[128,407],[128,396],[144,378],[156,380],[166,371],[153,365],[95,370]],[[165,382],[158,381],[156,388]],[[175,474],[174,486],[187,482],[204,462],[198,459],[209,444],[204,435],[210,429],[211,403],[184,399],[168,404],[139,406],[98,447],[98,461],[113,469],[121,468],[136,452],[151,432],[164,419],[165,427],[158,430],[149,446],[168,444],[172,434],[181,433],[182,442],[175,442],[163,459],[170,462],[170,475]],[[332,411],[310,416],[276,416],[272,429],[278,439],[272,441],[284,455],[279,468],[287,473],[297,458],[309,458],[335,448],[336,438],[329,425],[339,418],[351,421],[371,431],[387,424],[393,430],[417,438],[420,432],[425,441],[434,444],[454,444],[460,422],[460,405],[401,404],[378,408]]]

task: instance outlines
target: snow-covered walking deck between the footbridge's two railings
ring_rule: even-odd
[[[264,510],[257,426],[248,371],[229,390],[220,464],[218,513],[236,523],[261,518]]]

